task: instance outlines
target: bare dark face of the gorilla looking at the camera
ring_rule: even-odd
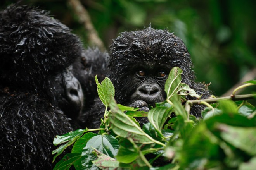
[[[157,66],[154,62],[136,66],[130,75],[135,91],[130,96],[129,106],[148,112],[149,106],[163,101],[166,98],[164,83],[169,72],[170,68],[163,65]]]

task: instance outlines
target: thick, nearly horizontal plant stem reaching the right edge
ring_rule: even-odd
[[[213,99],[200,99],[200,100],[188,100],[187,102],[192,103],[192,105],[200,105],[202,101],[207,103],[216,103],[218,100],[225,100],[225,99],[231,99],[233,101],[237,100],[246,100],[246,99],[252,99],[256,96],[256,94],[243,94],[243,95],[230,95],[220,98],[213,98]]]

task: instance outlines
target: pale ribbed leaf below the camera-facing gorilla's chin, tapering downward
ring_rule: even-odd
[[[155,127],[157,132],[163,136],[161,133],[161,129],[163,128],[164,123],[166,122],[167,118],[170,117],[172,113],[172,108],[166,107],[156,107],[149,110],[148,118],[149,122]]]

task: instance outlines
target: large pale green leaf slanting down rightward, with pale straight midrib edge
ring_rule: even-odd
[[[123,113],[116,105],[114,99],[109,102],[111,111],[109,112],[109,124],[115,134],[131,138],[135,143],[154,143],[154,139],[146,134],[142,129]]]

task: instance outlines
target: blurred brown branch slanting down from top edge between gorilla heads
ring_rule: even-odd
[[[78,15],[79,21],[85,27],[85,30],[88,33],[88,41],[92,43],[92,45],[97,46],[100,50],[105,51],[104,43],[98,36],[97,31],[95,30],[92,21],[90,19],[90,15],[87,10],[83,7],[79,0],[68,0],[69,5],[74,10],[75,14]]]

